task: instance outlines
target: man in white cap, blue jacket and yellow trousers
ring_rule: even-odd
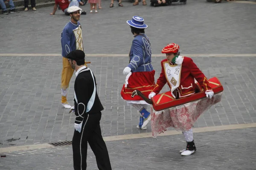
[[[64,108],[69,109],[71,106],[67,102],[67,88],[74,69],[71,67],[67,59],[67,54],[75,50],[84,51],[81,24],[78,22],[81,11],[82,9],[78,6],[71,6],[68,8],[67,12],[70,13],[71,19],[61,32],[61,47],[63,56],[63,68],[61,74],[61,104],[64,106]]]

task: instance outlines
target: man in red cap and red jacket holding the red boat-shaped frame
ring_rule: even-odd
[[[205,94],[210,99],[214,95],[209,82],[202,71],[195,65],[189,57],[179,56],[179,45],[172,43],[163,48],[162,53],[166,54],[166,59],[161,61],[162,71],[153,91],[148,95],[151,99],[162,90],[163,86],[168,83],[172,96],[175,99],[195,94],[195,79],[204,88]],[[186,149],[180,150],[181,155],[189,156],[196,151],[193,140],[192,129],[182,132],[187,146]]]

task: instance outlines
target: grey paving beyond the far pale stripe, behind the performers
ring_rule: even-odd
[[[87,54],[128,54],[133,39],[126,20],[144,17],[152,53],[158,54],[168,43],[176,42],[183,54],[256,54],[256,5],[208,3],[188,0],[186,5],[132,6],[125,1],[102,0],[98,14],[81,16],[84,50]],[[89,5],[81,7],[87,12]],[[60,36],[70,17],[52,7],[19,14],[0,15],[1,53],[59,53]]]

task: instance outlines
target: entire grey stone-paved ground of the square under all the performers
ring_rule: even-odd
[[[124,7],[118,7],[115,2],[114,8],[109,8],[109,4],[103,0],[103,9],[98,14],[81,17],[87,54],[128,54],[133,37],[125,22],[133,15],[145,18],[153,54],[160,54],[170,42],[180,45],[181,54],[241,54],[240,57],[192,57],[207,77],[216,76],[224,85],[222,101],[205,112],[194,127],[256,122],[256,57],[243,57],[243,54],[256,54],[255,4],[214,4],[205,0],[159,8],[150,7],[149,2],[148,6],[124,2]],[[88,5],[82,8],[89,10]],[[52,9],[0,15],[0,147],[72,139],[74,115],[60,105],[62,58],[44,56],[61,54],[60,34],[69,17],[61,11],[50,16]],[[42,56],[6,57],[1,56],[3,53],[41,53]],[[160,74],[161,59],[152,57],[155,79]],[[86,60],[91,62],[89,67],[96,76],[98,94],[105,108],[101,120],[103,136],[151,132],[150,125],[148,130],[136,128],[138,113],[120,96],[125,80],[122,71],[128,58],[86,57]],[[69,102],[73,100],[74,78],[70,83]],[[251,162],[255,162],[255,131],[250,128],[196,133],[198,151],[189,157],[177,153],[185,144],[179,135],[107,142],[107,145],[116,170],[222,170],[223,167],[245,170],[252,169]],[[19,154],[9,153],[1,158],[0,169],[20,170],[17,167],[20,165],[21,170],[72,169],[71,147]],[[94,157],[90,156],[89,169],[96,168]]]

